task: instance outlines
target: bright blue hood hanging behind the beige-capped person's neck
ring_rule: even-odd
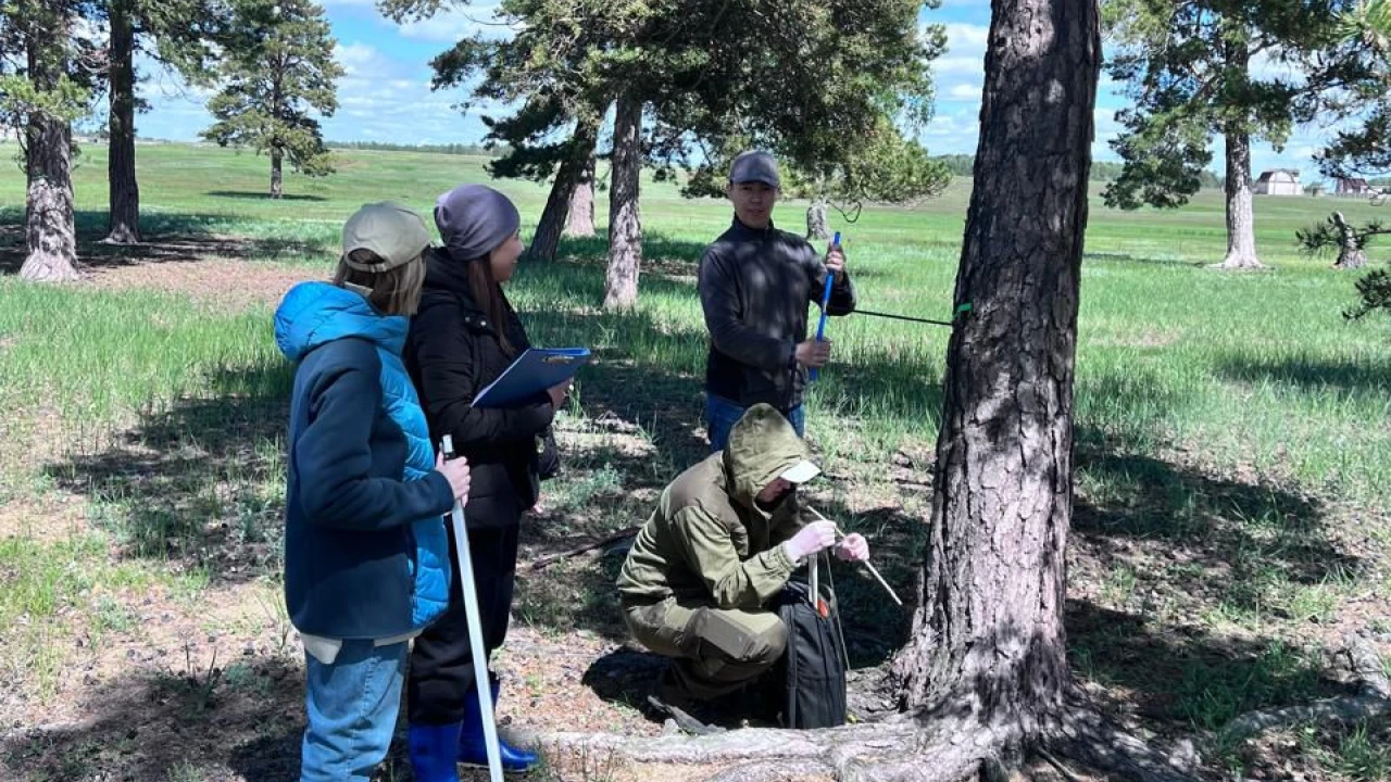
[[[401,355],[409,320],[381,314],[360,294],[328,282],[300,282],[275,308],[275,345],[298,362],[314,348],[357,337]]]

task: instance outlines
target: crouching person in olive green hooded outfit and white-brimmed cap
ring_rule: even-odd
[[[837,544],[832,522],[801,522],[797,486],[821,473],[810,455],[782,413],[754,405],[638,532],[618,590],[633,637],[673,658],[655,693],[665,704],[732,693],[778,662],[787,632],[765,605],[803,559],[832,545],[868,559],[862,536]]]

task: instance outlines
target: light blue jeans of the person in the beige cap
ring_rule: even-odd
[[[300,751],[300,782],[371,778],[396,729],[406,646],[345,640],[332,665],[305,655],[309,726]]]

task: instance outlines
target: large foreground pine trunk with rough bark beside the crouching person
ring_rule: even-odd
[[[1095,3],[993,10],[956,288],[972,309],[947,346],[929,548],[894,673],[906,708],[943,707],[1018,750],[1071,686],[1064,551],[1102,47]]]

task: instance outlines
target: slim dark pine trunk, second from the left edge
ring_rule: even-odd
[[[140,241],[140,186],[135,179],[135,28],[127,0],[111,3],[111,115],[106,242]]]

